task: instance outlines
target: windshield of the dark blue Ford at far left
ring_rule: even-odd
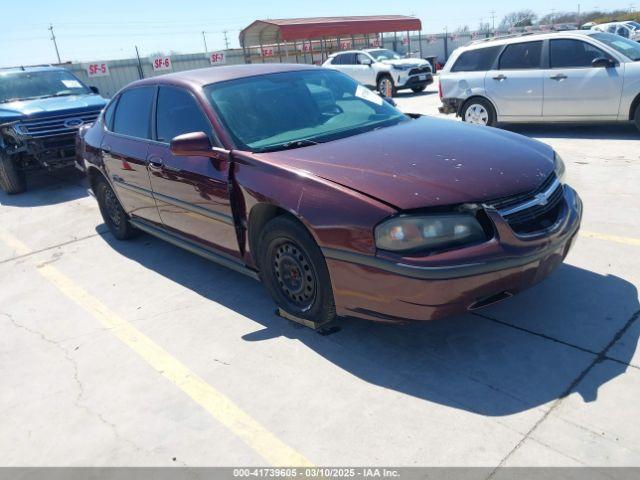
[[[0,103],[91,91],[66,70],[0,72]]]

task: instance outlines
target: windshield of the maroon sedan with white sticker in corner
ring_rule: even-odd
[[[300,148],[409,118],[340,72],[301,70],[215,83],[205,93],[239,148]]]

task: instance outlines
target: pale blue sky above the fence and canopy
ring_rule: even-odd
[[[633,0],[632,0],[633,1]],[[636,5],[640,7],[640,0]],[[581,3],[582,11],[630,8],[629,1],[591,0]],[[415,15],[422,20],[424,33],[443,32],[445,27],[469,25],[481,20],[496,25],[514,10],[531,8],[539,16],[575,11],[578,3],[564,0],[0,0],[0,67],[53,63],[56,54],[51,41],[52,24],[62,61],[97,61],[154,53],[195,53],[225,47],[223,31],[230,46],[238,47],[238,33],[253,20],[309,16]]]

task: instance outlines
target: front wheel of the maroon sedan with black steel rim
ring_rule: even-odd
[[[331,279],[322,251],[307,229],[288,216],[271,220],[261,232],[260,277],[286,313],[317,325],[336,318]]]

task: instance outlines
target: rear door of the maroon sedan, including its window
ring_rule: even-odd
[[[120,95],[101,149],[105,170],[125,211],[160,223],[147,170],[155,89],[136,87]]]

